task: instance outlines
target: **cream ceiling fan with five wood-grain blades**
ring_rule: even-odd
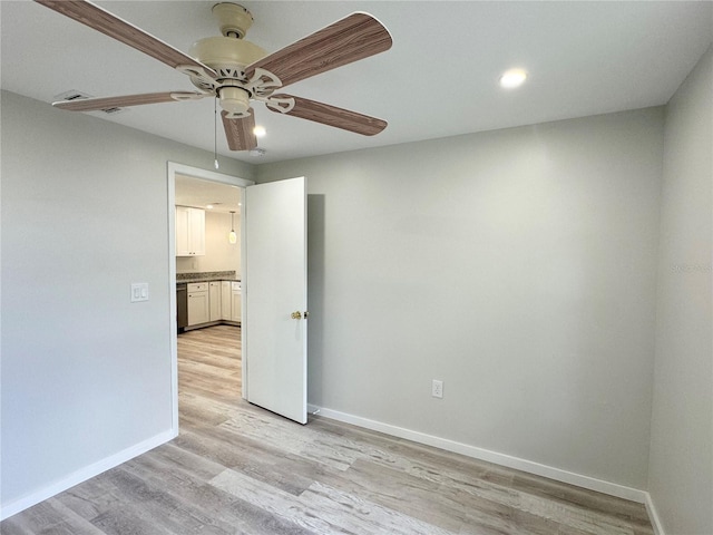
[[[244,39],[253,17],[236,3],[213,7],[221,33],[196,41],[186,55],[144,30],[85,0],[35,0],[187,75],[198,91],[166,91],[106,98],[61,100],[52,106],[91,111],[144,104],[215,97],[231,150],[257,146],[252,101],[267,109],[365,136],[387,121],[293,95],[276,94],[290,84],[391,48],[391,35],[369,13],[355,12],[273,54]]]

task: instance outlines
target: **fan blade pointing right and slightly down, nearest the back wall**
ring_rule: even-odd
[[[343,130],[354,132],[364,136],[374,136],[382,132],[388,123],[383,119],[370,117],[368,115],[350,111],[349,109],[338,108],[324,103],[318,103],[302,97],[293,97],[292,95],[274,95],[275,99],[294,99],[294,107],[284,111],[279,106],[270,106],[267,109],[284,115],[292,115],[301,119],[313,120],[323,125],[342,128]]]

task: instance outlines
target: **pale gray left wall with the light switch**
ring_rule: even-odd
[[[1,105],[8,505],[170,430],[166,162],[211,169],[213,155],[9,93]],[[129,303],[133,282],[148,302]]]

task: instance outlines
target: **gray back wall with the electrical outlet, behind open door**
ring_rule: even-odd
[[[261,165],[309,181],[310,402],[645,488],[662,150],[651,108]]]

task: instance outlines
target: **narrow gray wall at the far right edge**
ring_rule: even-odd
[[[713,533],[713,49],[666,108],[649,492],[667,534]]]

